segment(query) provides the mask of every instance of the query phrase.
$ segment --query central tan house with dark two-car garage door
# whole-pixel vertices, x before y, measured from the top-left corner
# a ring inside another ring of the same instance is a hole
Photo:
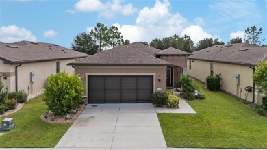
[[[188,55],[133,42],[68,65],[86,84],[88,103],[151,103],[153,92],[166,92],[167,86],[177,84]]]

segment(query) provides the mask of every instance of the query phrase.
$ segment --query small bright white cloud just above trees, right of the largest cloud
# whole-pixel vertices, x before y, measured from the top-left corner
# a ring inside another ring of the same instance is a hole
[[[191,25],[190,27],[186,27],[186,29],[183,29],[183,32],[181,32],[181,36],[183,36],[184,34],[191,37],[194,45],[196,45],[199,40],[212,38],[212,35],[205,32],[199,25]],[[214,38],[219,38],[220,40],[220,37],[218,36],[214,36]]]

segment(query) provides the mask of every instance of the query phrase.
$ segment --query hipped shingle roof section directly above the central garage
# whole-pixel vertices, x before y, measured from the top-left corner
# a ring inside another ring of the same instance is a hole
[[[79,66],[169,66],[170,63],[149,55],[128,45],[90,55],[87,58],[71,62],[68,65]]]

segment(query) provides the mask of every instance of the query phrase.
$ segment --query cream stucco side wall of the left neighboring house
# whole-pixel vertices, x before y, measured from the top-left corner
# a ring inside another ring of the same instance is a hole
[[[36,93],[38,90],[41,90],[47,81],[47,78],[56,73],[56,62],[60,62],[60,71],[74,73],[74,68],[72,66],[67,66],[66,64],[75,62],[75,59],[22,63],[21,66],[18,67],[18,90],[24,90],[27,94]],[[3,64],[3,61],[0,62],[0,72],[10,71],[11,74],[11,77],[8,77],[6,80],[3,80],[2,78],[4,86],[7,86],[9,91],[16,90],[14,72],[15,66],[17,65],[18,64]],[[33,83],[30,82],[31,71],[34,72]]]

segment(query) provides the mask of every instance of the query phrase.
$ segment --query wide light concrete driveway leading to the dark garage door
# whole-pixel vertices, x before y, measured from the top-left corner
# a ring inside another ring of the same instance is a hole
[[[86,106],[55,149],[168,149],[151,103],[93,106]]]

